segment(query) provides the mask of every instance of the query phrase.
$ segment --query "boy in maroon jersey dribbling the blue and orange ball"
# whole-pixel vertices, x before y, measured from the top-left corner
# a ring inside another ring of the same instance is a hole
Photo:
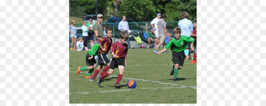
[[[122,78],[122,74],[124,73],[124,68],[126,66],[126,55],[128,50],[128,45],[126,44],[126,40],[128,39],[128,35],[125,31],[120,33],[120,41],[115,42],[111,47],[112,58],[110,60],[110,70],[105,72],[103,75],[99,76],[98,85],[101,86],[101,82],[104,78],[108,77],[108,75],[113,74],[113,70],[115,68],[119,69],[119,74],[116,79],[116,83],[114,85],[115,88],[120,88],[119,82]]]

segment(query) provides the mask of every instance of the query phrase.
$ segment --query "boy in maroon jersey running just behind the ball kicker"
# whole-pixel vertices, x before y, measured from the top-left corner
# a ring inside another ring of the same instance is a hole
[[[90,77],[89,81],[91,82],[95,82],[95,77],[96,75],[99,73],[99,71],[103,68],[104,64],[107,64],[104,68],[103,71],[100,73],[100,75],[103,75],[104,72],[106,72],[109,69],[109,59],[106,56],[106,54],[108,54],[113,41],[111,39],[112,35],[113,35],[113,29],[111,27],[106,28],[106,37],[104,37],[103,39],[100,39],[97,41],[97,43],[99,44],[100,48],[98,50],[98,65],[99,67],[97,69],[94,70],[93,75]],[[98,75],[97,75],[98,77]]]

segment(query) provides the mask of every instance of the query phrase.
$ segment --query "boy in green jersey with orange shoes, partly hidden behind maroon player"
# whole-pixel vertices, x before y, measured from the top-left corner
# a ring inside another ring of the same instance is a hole
[[[97,41],[99,39],[102,39],[103,37],[101,36],[97,36],[96,39]],[[100,48],[100,46],[98,44],[93,45],[93,47],[90,49],[90,51],[87,53],[86,55],[86,64],[87,66],[85,67],[78,67],[77,69],[77,75],[81,72],[81,71],[85,71],[85,70],[89,70],[89,73],[86,75],[86,78],[90,78],[93,70],[96,68],[96,60],[94,58],[94,56],[98,55],[98,49]]]

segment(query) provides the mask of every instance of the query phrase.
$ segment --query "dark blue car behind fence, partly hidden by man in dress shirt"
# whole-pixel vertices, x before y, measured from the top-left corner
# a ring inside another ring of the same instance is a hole
[[[105,23],[119,23],[122,19],[118,18],[118,17],[110,17],[107,19],[107,21]],[[133,35],[134,36],[138,36],[140,35],[140,37],[143,37],[143,32],[145,31],[143,28],[141,28],[133,19],[131,18],[126,18],[126,21],[129,23],[133,24],[129,24],[129,40],[134,40]],[[112,27],[113,28],[113,24],[106,24],[108,27]],[[120,31],[118,29],[118,24],[114,25],[115,29],[115,37],[119,38],[120,35]]]

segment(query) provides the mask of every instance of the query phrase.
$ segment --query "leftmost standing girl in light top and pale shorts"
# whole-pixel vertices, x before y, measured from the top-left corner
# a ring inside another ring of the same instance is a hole
[[[70,50],[76,50],[76,40],[77,40],[77,35],[76,35],[76,20],[72,19],[70,26],[69,26],[69,33],[71,37],[71,48]],[[73,48],[74,44],[74,48]]]

